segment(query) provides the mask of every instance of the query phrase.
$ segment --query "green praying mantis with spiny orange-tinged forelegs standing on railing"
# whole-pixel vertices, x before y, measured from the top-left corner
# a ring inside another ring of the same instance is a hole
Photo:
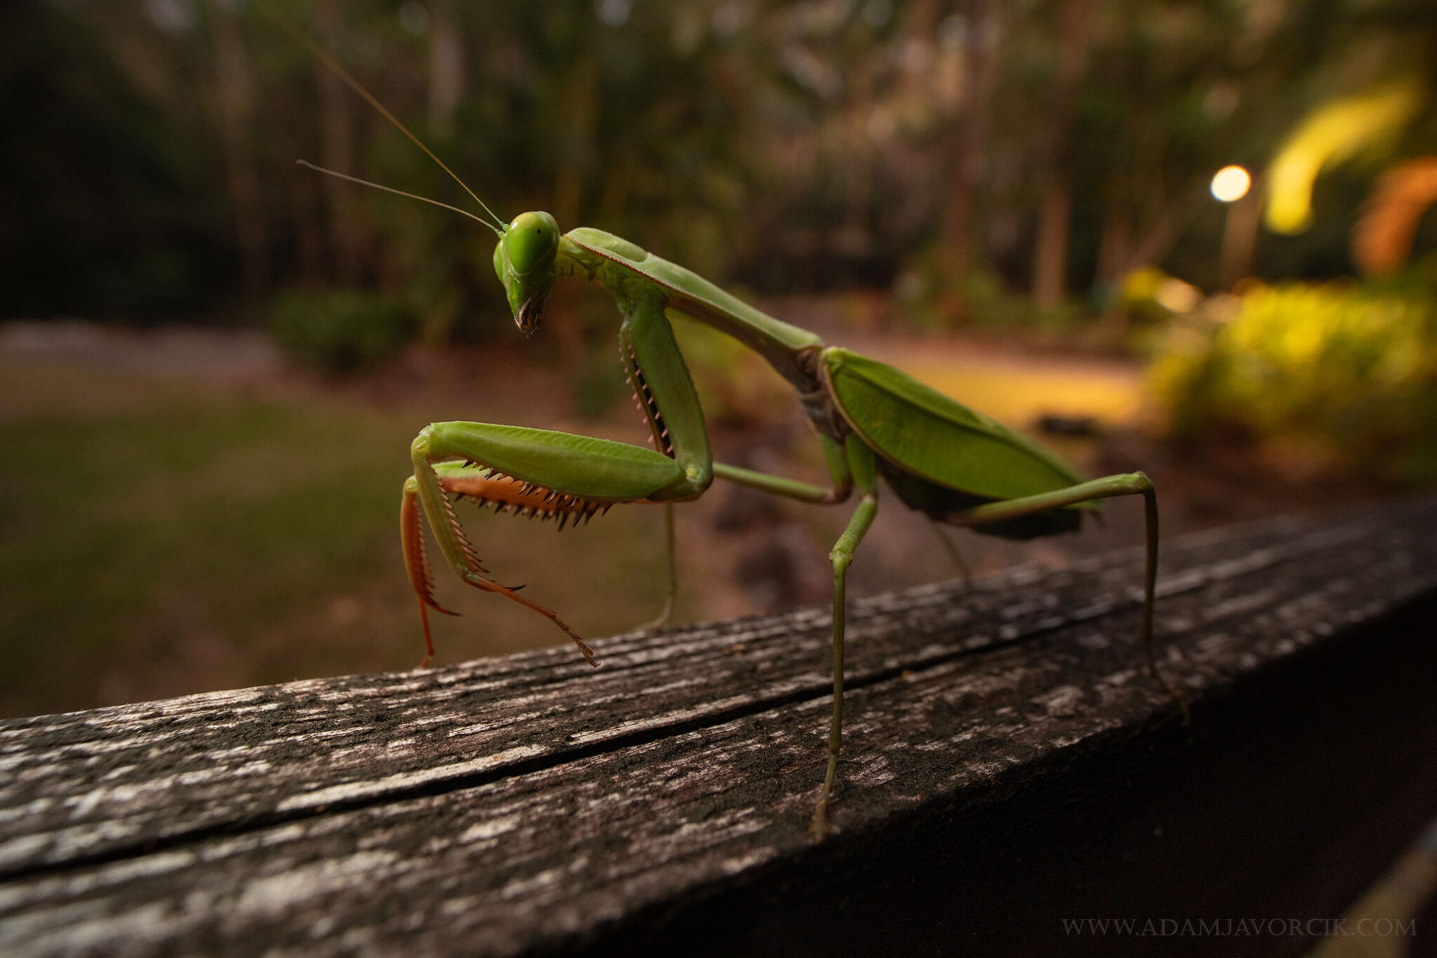
[[[611,233],[588,227],[560,233],[547,213],[522,213],[504,223],[333,57],[292,24],[286,23],[286,29],[428,154],[493,223],[427,197],[303,165],[461,213],[493,230],[499,238],[494,273],[504,286],[514,322],[526,333],[539,329],[545,300],[559,277],[602,286],[618,307],[624,371],[651,432],[652,448],[489,422],[434,422],[420,431],[410,448],[414,473],[404,483],[399,526],[405,569],[420,605],[425,664],[434,655],[428,612],[454,615],[434,597],[424,544],[427,520],[444,562],[461,580],[549,618],[578,643],[591,665],[598,665],[592,649],[558,613],[491,577],[466,537],[453,500],[556,518],[563,527],[616,503],[662,503],[671,510],[674,503],[703,496],[714,478],[822,506],[848,503],[856,496],[848,527],[829,553],[833,711],[828,766],[810,822],[815,840],[821,840],[829,830],[844,730],[844,586],[854,554],[878,513],[879,480],[901,503],[935,523],[1004,539],[1076,531],[1083,514],[1096,510],[1099,500],[1141,496],[1147,562],[1140,641],[1148,672],[1180,704],[1186,720],[1181,694],[1158,672],[1152,655],[1158,511],[1155,490],[1145,474],[1083,480],[1052,451],[981,412],[892,366],[829,346],[818,335],[780,322]],[[792,383],[822,445],[828,485],[714,461],[698,395],[670,326],[673,313],[734,338]],[[671,511],[668,530],[673,572]],[[673,586],[665,616],[671,605]]]

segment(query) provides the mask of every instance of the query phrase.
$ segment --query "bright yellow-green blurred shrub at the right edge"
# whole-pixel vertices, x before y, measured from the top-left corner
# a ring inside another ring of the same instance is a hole
[[[1388,478],[1437,478],[1437,306],[1338,283],[1256,286],[1175,322],[1152,389],[1175,438],[1292,438]]]

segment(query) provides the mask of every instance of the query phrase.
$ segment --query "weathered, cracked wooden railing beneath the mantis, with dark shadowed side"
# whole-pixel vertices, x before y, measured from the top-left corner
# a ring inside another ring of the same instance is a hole
[[[0,722],[0,952],[1300,954],[1142,922],[1335,918],[1437,810],[1437,503],[1165,543],[1191,727],[1137,582],[854,603],[819,846],[825,610]]]

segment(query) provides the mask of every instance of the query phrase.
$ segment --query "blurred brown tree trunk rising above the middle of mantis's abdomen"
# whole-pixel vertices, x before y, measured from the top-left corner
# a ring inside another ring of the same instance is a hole
[[[973,264],[974,194],[986,172],[993,82],[1002,36],[997,0],[963,0],[963,106],[948,147],[951,177],[938,227],[940,266],[960,277]]]

